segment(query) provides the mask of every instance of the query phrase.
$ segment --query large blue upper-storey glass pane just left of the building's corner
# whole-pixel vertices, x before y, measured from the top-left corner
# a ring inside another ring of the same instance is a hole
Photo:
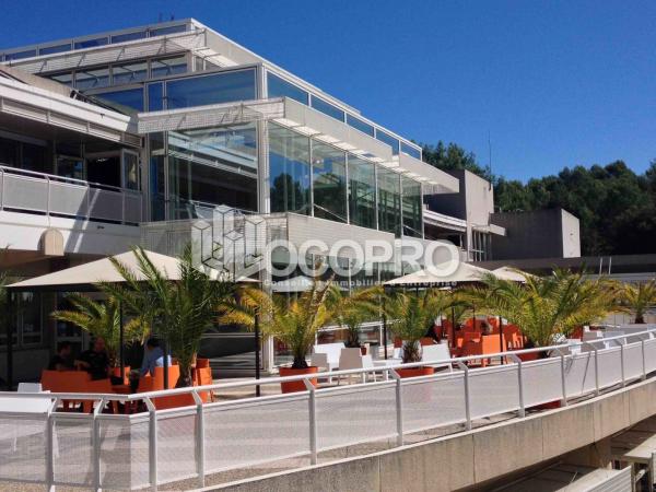
[[[255,99],[255,70],[181,79],[166,83],[168,109]]]

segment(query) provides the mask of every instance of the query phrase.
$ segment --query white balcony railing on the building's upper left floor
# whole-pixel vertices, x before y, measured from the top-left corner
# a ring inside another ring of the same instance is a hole
[[[138,224],[141,207],[140,191],[0,165],[0,210]]]

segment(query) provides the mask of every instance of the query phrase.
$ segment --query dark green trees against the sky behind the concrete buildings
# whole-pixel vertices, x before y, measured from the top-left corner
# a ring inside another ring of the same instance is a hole
[[[644,174],[622,161],[564,167],[555,176],[518,180],[494,176],[471,152],[449,143],[424,145],[424,161],[441,169],[469,169],[494,184],[496,210],[562,207],[581,220],[583,255],[656,253],[656,160]]]

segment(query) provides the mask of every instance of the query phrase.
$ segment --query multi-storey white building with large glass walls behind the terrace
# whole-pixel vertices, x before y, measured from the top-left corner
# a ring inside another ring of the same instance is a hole
[[[448,237],[482,257],[502,233],[488,212],[477,224],[424,207],[460,180],[418,144],[196,20],[0,50],[0,267],[22,276],[122,253],[218,207],[274,222],[267,241]],[[20,345],[50,350],[56,302],[19,324]]]

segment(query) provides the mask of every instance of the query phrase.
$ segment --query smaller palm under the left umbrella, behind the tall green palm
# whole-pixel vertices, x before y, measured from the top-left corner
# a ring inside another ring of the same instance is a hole
[[[115,297],[105,301],[95,301],[82,294],[66,296],[74,309],[55,311],[51,316],[58,321],[71,323],[91,333],[95,338],[103,338],[107,349],[109,364],[116,367],[117,354],[120,351],[120,307]],[[124,326],[124,342],[132,343],[142,336],[142,326],[137,319]]]

